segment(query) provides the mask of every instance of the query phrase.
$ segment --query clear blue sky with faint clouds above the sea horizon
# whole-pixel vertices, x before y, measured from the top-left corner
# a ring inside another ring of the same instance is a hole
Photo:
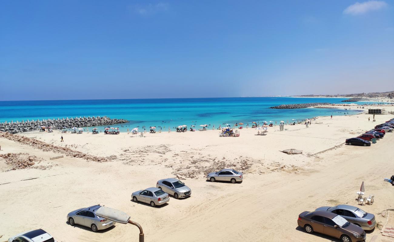
[[[394,91],[394,0],[4,0],[0,87],[0,100]]]

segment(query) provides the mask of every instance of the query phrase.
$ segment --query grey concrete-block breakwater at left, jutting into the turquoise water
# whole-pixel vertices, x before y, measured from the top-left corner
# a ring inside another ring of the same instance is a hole
[[[27,120],[26,122],[11,122],[11,123],[0,123],[0,131],[9,133],[21,133],[26,131],[33,131],[40,129],[41,126],[50,127],[52,129],[59,129],[62,127],[72,128],[72,127],[90,127],[90,126],[101,126],[101,125],[113,125],[113,124],[123,124],[127,123],[128,120],[109,118],[107,116],[93,116],[89,117],[75,117],[75,118],[58,118],[58,119],[43,119],[43,120]]]

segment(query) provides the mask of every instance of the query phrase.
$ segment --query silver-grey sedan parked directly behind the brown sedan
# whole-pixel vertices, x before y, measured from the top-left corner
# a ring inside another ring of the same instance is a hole
[[[375,228],[375,215],[364,212],[358,207],[342,204],[335,207],[319,207],[316,211],[322,210],[332,212],[334,214],[344,217],[349,222],[360,226],[364,230],[372,230]]]

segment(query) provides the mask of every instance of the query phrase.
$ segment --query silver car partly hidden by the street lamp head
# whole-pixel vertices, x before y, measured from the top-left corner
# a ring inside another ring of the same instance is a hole
[[[115,225],[116,222],[102,218],[96,214],[95,211],[97,211],[97,209],[100,207],[101,206],[99,204],[69,212],[69,214],[67,214],[67,221],[71,226],[79,224],[90,227],[93,232],[97,232],[102,229],[108,229],[109,227]]]

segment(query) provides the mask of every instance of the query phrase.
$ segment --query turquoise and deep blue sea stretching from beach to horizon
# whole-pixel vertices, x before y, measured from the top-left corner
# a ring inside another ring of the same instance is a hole
[[[290,103],[329,102],[341,103],[344,98],[169,98],[119,100],[56,100],[56,101],[2,101],[0,122],[66,118],[76,116],[108,116],[124,118],[130,122],[117,126],[127,128],[156,126],[168,130],[178,125],[208,124],[212,128],[223,124],[281,120],[292,122],[315,116],[355,114],[345,109],[269,109],[271,106]],[[342,102],[343,103],[343,102]]]

